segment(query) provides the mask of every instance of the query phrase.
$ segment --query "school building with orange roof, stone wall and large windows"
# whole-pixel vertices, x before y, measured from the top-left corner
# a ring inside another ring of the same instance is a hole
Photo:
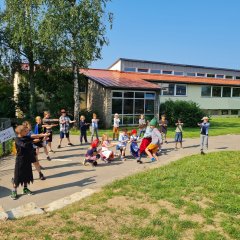
[[[240,70],[120,58],[108,69],[82,69],[81,109],[100,114],[106,127],[114,113],[122,125],[151,119],[167,99],[194,101],[209,115],[240,115]]]

